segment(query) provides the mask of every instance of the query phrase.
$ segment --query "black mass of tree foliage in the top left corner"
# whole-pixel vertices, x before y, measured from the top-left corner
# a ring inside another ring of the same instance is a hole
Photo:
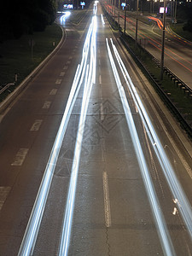
[[[24,33],[44,31],[54,22],[55,0],[15,0],[0,3],[0,42]]]

